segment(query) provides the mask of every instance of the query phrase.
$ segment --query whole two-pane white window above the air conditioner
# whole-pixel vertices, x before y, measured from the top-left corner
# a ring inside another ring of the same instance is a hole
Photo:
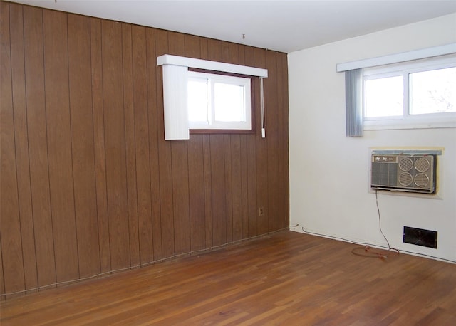
[[[365,68],[363,80],[365,129],[456,125],[456,56]]]

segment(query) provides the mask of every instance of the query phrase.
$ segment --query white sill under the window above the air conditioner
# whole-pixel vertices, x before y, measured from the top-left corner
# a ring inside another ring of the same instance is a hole
[[[456,117],[365,120],[364,130],[456,128]]]

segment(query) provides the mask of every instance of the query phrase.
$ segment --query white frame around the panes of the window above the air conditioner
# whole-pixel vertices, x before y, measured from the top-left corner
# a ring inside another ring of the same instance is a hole
[[[384,129],[420,129],[456,127],[456,112],[439,112],[425,114],[410,114],[410,79],[411,73],[456,67],[456,55],[450,54],[435,58],[423,58],[403,63],[380,65],[363,68],[363,120],[364,130]],[[403,115],[366,117],[366,80],[403,76]]]

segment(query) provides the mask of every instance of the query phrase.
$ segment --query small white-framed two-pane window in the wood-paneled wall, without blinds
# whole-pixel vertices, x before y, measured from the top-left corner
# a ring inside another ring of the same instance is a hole
[[[192,130],[252,130],[250,78],[188,72],[187,108]]]

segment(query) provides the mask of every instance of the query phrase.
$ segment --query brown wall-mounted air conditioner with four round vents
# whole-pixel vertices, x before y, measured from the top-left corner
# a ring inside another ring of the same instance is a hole
[[[372,154],[371,189],[435,194],[436,155]]]

